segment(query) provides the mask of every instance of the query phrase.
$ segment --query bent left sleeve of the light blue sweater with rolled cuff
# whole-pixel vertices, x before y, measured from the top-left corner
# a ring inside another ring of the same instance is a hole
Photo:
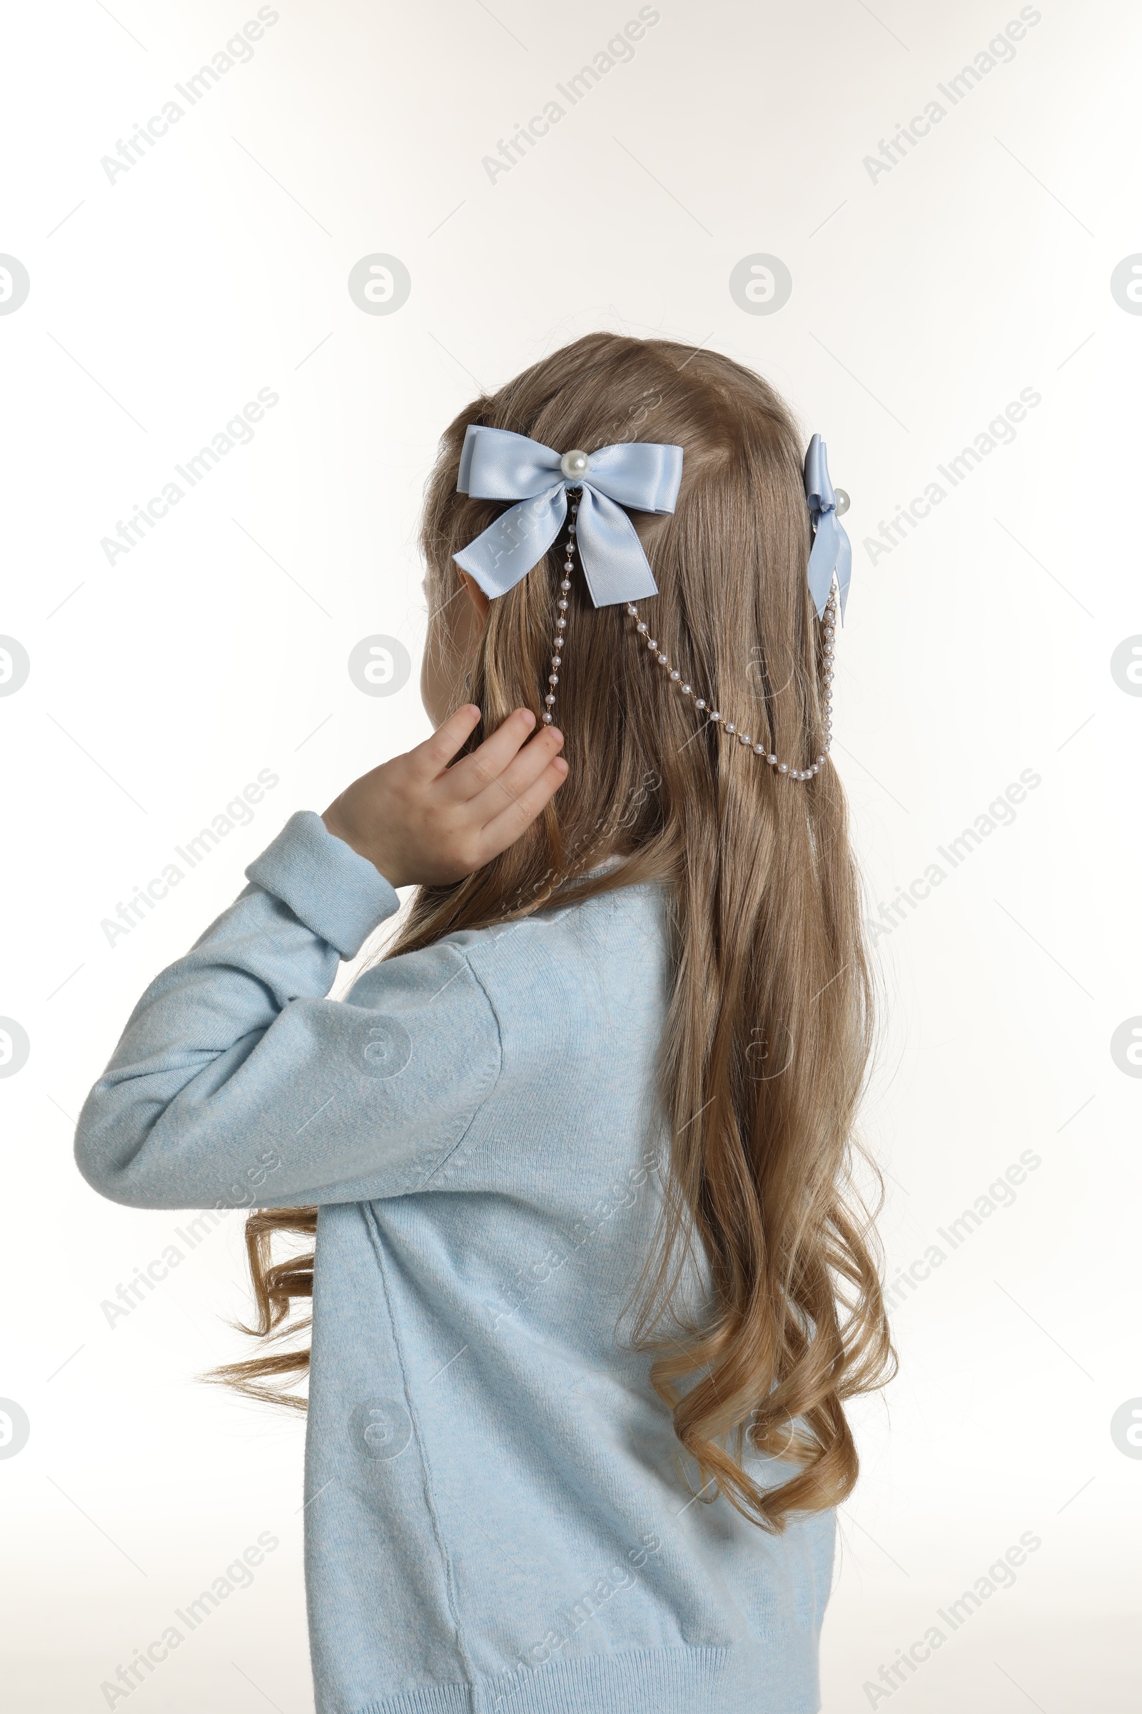
[[[147,987],[84,1102],[79,1171],[144,1208],[300,1207],[433,1188],[500,1070],[491,1003],[442,941],[325,996],[399,908],[301,811]]]

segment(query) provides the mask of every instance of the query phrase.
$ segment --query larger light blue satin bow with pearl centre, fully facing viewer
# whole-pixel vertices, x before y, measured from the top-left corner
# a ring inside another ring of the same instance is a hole
[[[623,511],[673,512],[681,447],[651,440],[558,454],[527,435],[473,423],[455,487],[476,500],[519,500],[454,560],[485,595],[505,595],[538,566],[567,518],[567,490],[582,487],[575,542],[596,607],[657,595],[635,526]],[[832,492],[832,490],[830,490]]]

